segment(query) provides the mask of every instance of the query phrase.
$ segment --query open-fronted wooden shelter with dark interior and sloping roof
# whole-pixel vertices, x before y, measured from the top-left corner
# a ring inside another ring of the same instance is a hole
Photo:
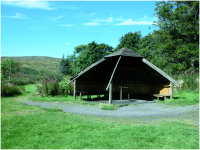
[[[100,95],[109,93],[145,94],[157,97],[173,97],[173,84],[178,82],[142,56],[128,48],[111,53],[70,79],[76,93]],[[109,91],[108,91],[109,89]],[[120,98],[121,95],[120,95]]]

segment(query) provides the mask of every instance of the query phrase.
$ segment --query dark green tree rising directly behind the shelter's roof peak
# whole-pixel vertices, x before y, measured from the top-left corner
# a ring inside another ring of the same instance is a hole
[[[114,49],[114,51],[117,51],[123,47],[132,49],[134,51],[138,50],[137,43],[141,39],[141,31],[138,32],[128,32],[124,36],[122,36],[119,41],[120,43],[117,45],[117,47]]]

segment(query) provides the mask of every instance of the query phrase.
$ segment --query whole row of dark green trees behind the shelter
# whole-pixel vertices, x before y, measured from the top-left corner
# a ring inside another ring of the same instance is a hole
[[[63,58],[60,70],[75,75],[102,57],[123,47],[136,53],[167,73],[195,72],[199,66],[199,1],[159,1],[155,14],[157,29],[142,37],[141,31],[128,32],[119,38],[116,48],[108,44],[74,48],[72,55]]]

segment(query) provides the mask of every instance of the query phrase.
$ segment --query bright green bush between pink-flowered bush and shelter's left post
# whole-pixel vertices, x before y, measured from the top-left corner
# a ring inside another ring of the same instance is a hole
[[[72,84],[69,84],[67,85],[67,83],[69,82],[69,79],[66,79],[64,78],[62,80],[62,82],[60,82],[59,84],[59,92],[60,92],[60,95],[64,95],[64,96],[67,96],[67,95],[72,95],[73,92],[74,92],[74,86]]]

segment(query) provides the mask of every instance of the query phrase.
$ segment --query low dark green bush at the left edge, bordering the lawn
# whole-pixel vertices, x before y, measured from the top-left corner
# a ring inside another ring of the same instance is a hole
[[[1,96],[7,97],[7,96],[14,96],[14,95],[20,95],[22,91],[24,91],[24,87],[18,87],[17,85],[13,85],[11,83],[5,83],[1,82]]]

